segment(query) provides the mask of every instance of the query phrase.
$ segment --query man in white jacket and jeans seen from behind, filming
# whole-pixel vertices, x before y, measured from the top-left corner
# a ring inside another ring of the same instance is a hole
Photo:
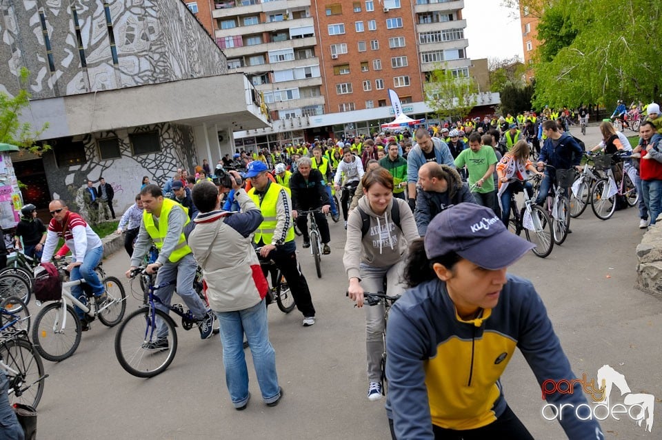
[[[276,354],[269,341],[264,297],[269,288],[250,235],[262,223],[262,214],[245,190],[237,185],[239,173],[230,171],[234,199],[241,212],[220,209],[218,188],[208,181],[193,187],[193,203],[199,210],[188,246],[202,268],[210,308],[221,325],[223,366],[232,405],[238,411],[248,406],[248,368],[243,352],[243,334],[253,357],[262,399],[277,406],[283,389],[278,386]]]

